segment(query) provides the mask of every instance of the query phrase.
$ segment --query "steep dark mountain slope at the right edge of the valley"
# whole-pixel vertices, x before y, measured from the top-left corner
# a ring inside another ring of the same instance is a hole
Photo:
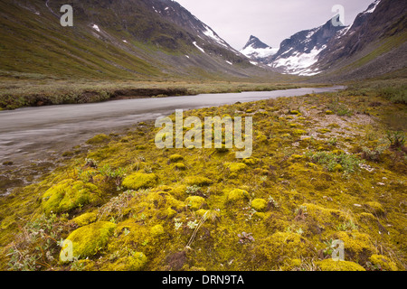
[[[326,70],[318,79],[373,78],[405,69],[407,2],[376,0],[341,37],[332,39],[313,69]]]

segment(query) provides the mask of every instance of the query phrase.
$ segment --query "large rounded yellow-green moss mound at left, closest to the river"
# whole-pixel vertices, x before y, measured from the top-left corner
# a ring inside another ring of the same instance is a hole
[[[70,211],[89,203],[99,203],[100,194],[98,187],[91,183],[65,180],[45,191],[42,208],[46,214]]]

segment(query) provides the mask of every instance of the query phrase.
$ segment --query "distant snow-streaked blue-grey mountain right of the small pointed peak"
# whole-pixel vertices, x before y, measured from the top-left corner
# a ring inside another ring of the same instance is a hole
[[[309,68],[318,61],[319,53],[327,49],[327,43],[345,29],[329,20],[317,28],[295,33],[281,42],[279,51],[263,63],[282,73],[315,75],[318,68]]]

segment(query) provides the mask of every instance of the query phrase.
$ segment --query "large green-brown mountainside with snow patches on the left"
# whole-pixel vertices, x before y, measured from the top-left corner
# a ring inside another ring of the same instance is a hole
[[[0,77],[224,79],[272,77],[172,0],[0,1]]]

